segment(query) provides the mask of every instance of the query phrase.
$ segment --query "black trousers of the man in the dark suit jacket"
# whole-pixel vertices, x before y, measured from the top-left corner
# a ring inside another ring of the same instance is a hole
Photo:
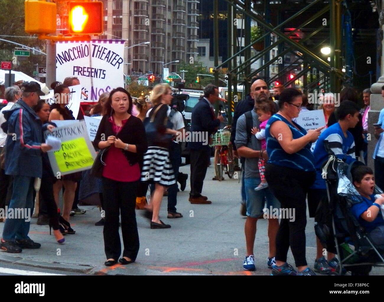
[[[209,165],[211,149],[190,150],[191,177],[190,197],[199,197],[203,190],[205,174]]]

